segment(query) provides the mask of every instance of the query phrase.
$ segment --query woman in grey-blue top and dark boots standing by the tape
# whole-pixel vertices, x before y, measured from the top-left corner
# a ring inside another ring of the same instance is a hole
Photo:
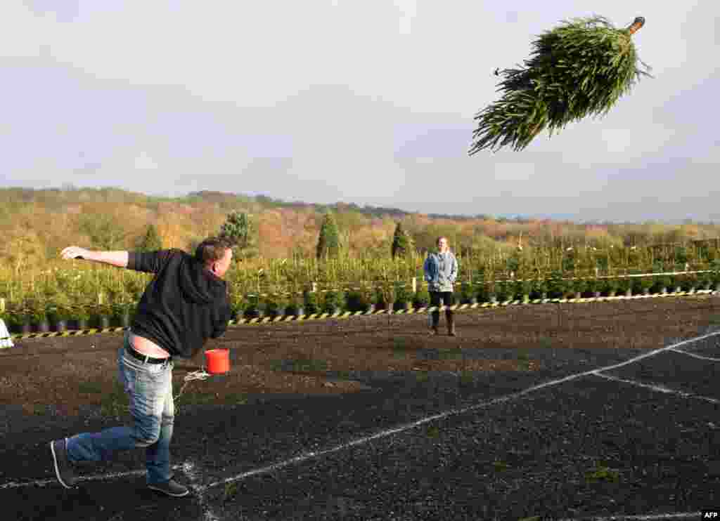
[[[457,277],[457,260],[450,251],[448,240],[445,237],[438,237],[437,244],[438,251],[428,254],[423,269],[430,292],[430,305],[439,308],[441,301],[444,305],[453,305],[455,302],[452,291],[453,282],[455,282]],[[432,312],[432,318],[433,325],[431,333],[436,335],[438,334],[440,311],[434,310]],[[448,334],[455,336],[455,322],[452,310],[445,310],[445,318],[448,324]]]

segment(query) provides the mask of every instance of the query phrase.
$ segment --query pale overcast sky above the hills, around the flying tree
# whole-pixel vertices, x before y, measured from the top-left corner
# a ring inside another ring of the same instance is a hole
[[[469,157],[493,70],[593,14],[647,19],[654,78]],[[0,185],[720,221],[719,19],[711,0],[2,0]]]

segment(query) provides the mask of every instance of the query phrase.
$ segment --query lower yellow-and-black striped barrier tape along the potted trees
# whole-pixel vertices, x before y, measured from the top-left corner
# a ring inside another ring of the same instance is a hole
[[[377,309],[372,311],[338,311],[336,313],[312,313],[310,315],[276,315],[254,318],[240,318],[240,320],[230,320],[228,326],[240,326],[243,324],[269,324],[276,322],[302,322],[302,321],[319,321],[328,318],[351,318],[357,316],[369,315],[413,315],[420,313],[431,313],[432,311],[443,310],[473,310],[485,308],[503,308],[509,305],[532,305],[547,303],[587,303],[587,302],[611,302],[615,300],[636,300],[643,298],[666,298],[666,297],[683,297],[693,295],[717,295],[720,292],[715,290],[696,290],[681,291],[672,293],[654,293],[650,295],[618,295],[615,297],[588,297],[588,298],[544,298],[544,299],[523,299],[523,300],[505,300],[504,302],[484,302],[475,304],[454,304],[449,306],[441,305],[440,307],[432,306],[426,308],[406,308],[400,310]],[[46,333],[16,333],[9,337],[0,338],[0,340],[24,340],[26,338],[50,338],[54,336],[81,336],[96,335],[101,333],[119,333],[125,331],[126,327],[118,326],[113,328],[90,328],[78,329],[72,331],[48,331]]]

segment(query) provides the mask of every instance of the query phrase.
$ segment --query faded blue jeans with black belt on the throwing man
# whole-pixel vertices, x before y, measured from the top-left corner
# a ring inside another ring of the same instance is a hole
[[[145,448],[148,484],[165,483],[170,471],[170,440],[173,436],[173,362],[146,364],[125,352],[129,344],[125,331],[123,346],[117,353],[120,382],[130,398],[132,426],[113,427],[99,433],[83,433],[68,438],[68,459],[105,461],[116,451]]]

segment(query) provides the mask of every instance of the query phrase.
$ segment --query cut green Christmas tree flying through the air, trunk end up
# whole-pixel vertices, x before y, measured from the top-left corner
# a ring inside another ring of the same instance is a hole
[[[475,116],[469,155],[505,146],[519,151],[545,128],[552,136],[571,121],[607,114],[642,75],[649,76],[631,40],[643,24],[638,17],[627,29],[616,29],[592,17],[541,34],[524,67],[495,72],[503,75],[503,96]]]

